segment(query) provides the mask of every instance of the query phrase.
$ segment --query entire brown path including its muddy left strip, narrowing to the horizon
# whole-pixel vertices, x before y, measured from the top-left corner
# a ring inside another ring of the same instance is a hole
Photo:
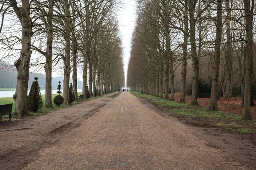
[[[198,135],[199,130],[159,114],[129,92],[115,96],[104,96],[14,125],[1,124],[0,169],[255,168],[227,159],[227,151],[207,142],[203,135]]]

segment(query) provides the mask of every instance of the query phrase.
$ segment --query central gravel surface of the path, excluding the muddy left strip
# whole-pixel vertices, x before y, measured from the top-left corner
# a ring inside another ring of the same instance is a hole
[[[62,134],[57,143],[40,150],[38,158],[23,169],[249,169],[224,159],[223,150],[199,138],[190,128],[166,119],[129,92],[121,92]]]

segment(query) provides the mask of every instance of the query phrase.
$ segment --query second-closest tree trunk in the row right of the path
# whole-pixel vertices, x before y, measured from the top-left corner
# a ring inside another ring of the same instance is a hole
[[[212,89],[209,110],[218,111],[218,74],[221,58],[221,33],[222,33],[222,0],[217,1],[216,39],[214,48],[214,63],[212,68]]]

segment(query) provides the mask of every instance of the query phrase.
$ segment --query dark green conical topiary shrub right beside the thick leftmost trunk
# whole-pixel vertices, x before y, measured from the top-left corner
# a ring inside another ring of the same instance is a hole
[[[27,98],[27,108],[28,111],[38,112],[44,107],[41,91],[38,83],[38,78],[35,77],[35,81],[32,82],[32,86],[29,91],[29,96]]]

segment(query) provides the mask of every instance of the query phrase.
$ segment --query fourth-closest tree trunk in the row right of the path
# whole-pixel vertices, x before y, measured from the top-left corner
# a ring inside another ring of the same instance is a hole
[[[186,67],[187,67],[187,46],[188,46],[188,0],[185,0],[184,9],[184,42],[182,45],[182,70],[181,70],[181,87],[180,87],[180,102],[186,103],[185,91],[186,91]]]

